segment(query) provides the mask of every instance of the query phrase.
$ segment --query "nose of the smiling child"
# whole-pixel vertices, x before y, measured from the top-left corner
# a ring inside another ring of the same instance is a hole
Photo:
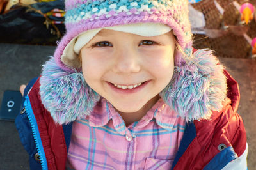
[[[141,57],[132,47],[120,47],[115,52],[115,73],[135,73],[141,70]]]

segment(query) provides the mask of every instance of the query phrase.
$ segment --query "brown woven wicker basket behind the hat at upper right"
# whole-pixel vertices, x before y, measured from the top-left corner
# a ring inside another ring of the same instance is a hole
[[[204,13],[205,28],[207,29],[223,29],[225,25],[239,26],[240,13],[232,4],[231,0],[217,0],[217,2],[225,9],[223,15],[216,8],[213,0],[203,0],[199,3],[192,4],[193,8]],[[246,0],[237,0],[237,3],[246,3]],[[256,4],[256,0],[249,1]],[[256,37],[256,22],[252,20],[248,24],[247,35],[251,38]],[[196,49],[210,48],[216,52],[216,56],[227,58],[252,58],[251,45],[243,36],[235,35],[231,31],[218,38],[209,38],[207,35],[194,35],[193,47]]]

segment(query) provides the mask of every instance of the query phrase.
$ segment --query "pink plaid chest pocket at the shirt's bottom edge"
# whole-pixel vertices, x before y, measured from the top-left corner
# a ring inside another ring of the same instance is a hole
[[[145,170],[152,170],[152,169],[171,169],[173,164],[173,159],[170,160],[161,160],[156,158],[146,158],[145,160]]]

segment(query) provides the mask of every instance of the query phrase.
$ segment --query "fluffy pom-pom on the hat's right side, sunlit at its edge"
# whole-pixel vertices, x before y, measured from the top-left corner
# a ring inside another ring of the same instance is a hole
[[[186,121],[209,119],[227,97],[223,65],[209,49],[197,50],[159,95]]]

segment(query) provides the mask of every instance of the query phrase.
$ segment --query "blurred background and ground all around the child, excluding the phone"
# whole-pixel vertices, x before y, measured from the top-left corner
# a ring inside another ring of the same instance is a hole
[[[256,169],[255,7],[256,0],[190,0],[189,5],[193,47],[214,50],[239,83],[237,112],[247,133],[248,169]],[[20,84],[40,75],[65,34],[64,10],[64,0],[0,0],[0,104],[6,90],[19,91]],[[13,119],[0,119],[0,169],[29,169]]]

